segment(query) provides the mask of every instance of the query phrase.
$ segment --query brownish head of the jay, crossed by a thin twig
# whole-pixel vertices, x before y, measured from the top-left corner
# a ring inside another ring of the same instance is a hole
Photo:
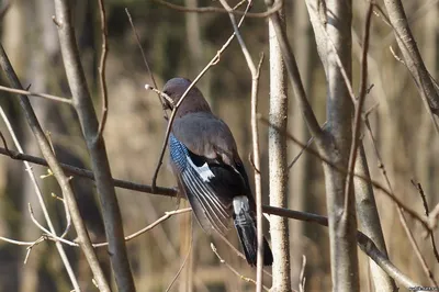
[[[185,78],[172,78],[166,82],[162,92],[170,99],[165,99],[165,106],[167,110],[172,110],[173,106],[178,104],[191,83],[192,81]],[[211,108],[204,99],[203,93],[201,93],[195,86],[191,88],[184,100],[181,102],[177,111],[177,117],[194,112],[211,112]]]

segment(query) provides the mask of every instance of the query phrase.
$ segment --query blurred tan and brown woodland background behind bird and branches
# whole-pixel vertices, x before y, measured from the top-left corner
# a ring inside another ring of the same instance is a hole
[[[95,109],[101,111],[98,65],[101,54],[101,30],[98,1],[70,1],[78,45],[81,53],[88,86],[92,92]],[[437,0],[403,1],[415,38],[430,74],[436,78],[439,68],[439,10]],[[54,15],[53,0],[0,1],[1,42],[19,74],[24,87],[35,92],[70,97],[64,72]],[[221,7],[217,1],[172,0],[183,7]],[[230,5],[237,1],[229,1]],[[379,4],[380,1],[379,1]],[[365,15],[365,1],[353,1],[352,60],[353,87],[358,88],[361,37]],[[143,63],[142,54],[125,14],[127,8],[140,37],[140,45],[157,79],[158,87],[167,79],[181,76],[193,79],[222,47],[233,29],[225,13],[183,13],[160,4],[158,0],[106,0],[108,33],[110,53],[106,63],[109,87],[109,117],[104,132],[111,169],[114,178],[150,184],[158,161],[166,130],[161,105],[157,96],[144,89],[151,83]],[[263,1],[256,1],[252,11],[264,11]],[[325,117],[326,81],[315,48],[312,27],[304,1],[285,1],[288,34],[294,48],[303,82],[314,111],[323,124]],[[263,18],[247,18],[241,26],[243,36],[255,60],[261,53],[268,57],[268,22]],[[398,55],[391,27],[382,16],[372,18],[371,44],[369,50],[369,81],[374,87],[367,98],[365,109],[370,114],[372,131],[383,164],[395,194],[406,204],[424,213],[417,190],[410,183],[421,183],[428,204],[432,209],[439,202],[438,136],[426,114],[421,100],[408,71],[392,55],[390,47]],[[268,59],[268,58],[266,58]],[[262,65],[259,91],[259,112],[268,116],[269,64]],[[1,75],[1,85],[8,86]],[[210,101],[213,111],[230,126],[237,141],[240,156],[246,162],[249,177],[252,168],[248,162],[251,151],[250,136],[250,86],[251,77],[236,41],[221,56],[199,82],[199,88]],[[16,98],[3,98],[0,104],[7,110],[15,134],[25,151],[41,156],[30,128],[20,111]],[[294,97],[289,96],[289,130],[306,143],[309,138],[301,113],[296,110]],[[61,161],[89,168],[88,153],[82,139],[76,114],[66,104],[32,98],[32,104],[45,131],[56,145]],[[13,148],[10,135],[0,122],[0,130]],[[267,127],[260,125],[262,187],[268,202]],[[363,131],[371,175],[383,181],[378,167],[376,155],[371,147],[371,137]],[[289,144],[291,160],[299,148]],[[167,158],[166,158],[167,160]],[[290,161],[289,160],[289,161]],[[45,168],[34,167],[40,176]],[[63,203],[50,195],[60,195],[53,177],[40,179],[50,216],[59,233],[66,224]],[[75,192],[93,242],[104,240],[102,218],[95,201],[93,183],[74,178]],[[167,161],[160,170],[158,186],[175,187]],[[116,189],[121,204],[125,234],[132,234],[153,223],[164,212],[185,205],[176,199]],[[395,205],[375,193],[391,260],[404,273],[424,285],[430,282],[404,232]],[[291,209],[326,215],[324,178],[320,161],[304,154],[290,169],[289,205]],[[35,217],[44,222],[35,190],[24,166],[20,161],[0,156],[0,236],[32,242],[42,232],[31,221],[27,204]],[[193,227],[192,227],[193,226]],[[291,262],[294,288],[306,257],[306,291],[330,291],[328,232],[311,223],[291,222]],[[423,257],[432,274],[439,278],[429,238],[418,224],[408,217]],[[268,231],[267,231],[268,234]],[[436,235],[439,237],[439,233]],[[72,229],[68,236],[76,237]],[[192,238],[192,239],[191,239]],[[235,233],[229,240],[238,247]],[[222,265],[212,252],[210,243],[215,243],[218,254],[244,277],[255,278],[245,260],[238,258],[222,240],[202,233],[189,214],[171,217],[148,233],[127,243],[131,265],[138,291],[165,291],[177,274],[191,247],[189,260],[171,291],[252,291],[251,283],[243,281]],[[191,246],[192,245],[192,246]],[[91,272],[79,249],[65,247],[76,273],[86,291],[95,291]],[[70,291],[67,273],[55,249],[44,242],[35,246],[27,259],[23,260],[26,248],[0,242],[0,291]],[[361,291],[374,291],[369,279],[365,256],[359,251]],[[102,265],[109,271],[105,248],[99,249]],[[270,269],[268,269],[270,271]],[[270,287],[271,279],[264,277]]]

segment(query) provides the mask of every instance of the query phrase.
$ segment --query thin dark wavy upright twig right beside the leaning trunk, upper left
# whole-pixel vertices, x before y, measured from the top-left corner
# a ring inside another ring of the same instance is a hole
[[[106,29],[105,5],[103,3],[103,0],[98,0],[98,3],[99,3],[99,13],[101,15],[101,34],[102,34],[102,44],[101,44],[102,50],[101,50],[101,59],[99,63],[99,82],[101,85],[101,94],[102,94],[102,113],[101,113],[101,123],[99,124],[95,139],[101,138],[103,130],[105,128],[106,116],[109,113],[109,93],[105,80],[106,55],[109,53],[109,44],[106,42],[106,37],[109,31]]]

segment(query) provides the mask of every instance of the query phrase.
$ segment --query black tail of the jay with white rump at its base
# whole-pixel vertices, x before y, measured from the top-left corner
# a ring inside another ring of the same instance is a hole
[[[258,258],[258,237],[256,231],[255,217],[250,213],[250,204],[245,195],[235,196],[234,205],[234,222],[238,232],[239,242],[246,255],[247,262],[250,266],[256,266]],[[273,255],[267,239],[263,238],[263,265],[271,266]]]

